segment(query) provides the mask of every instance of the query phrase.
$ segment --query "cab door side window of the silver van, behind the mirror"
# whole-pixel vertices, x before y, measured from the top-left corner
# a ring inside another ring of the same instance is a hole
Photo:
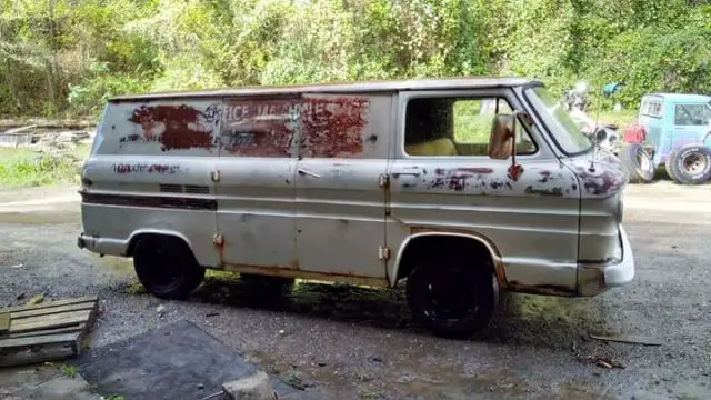
[[[497,107],[511,113],[504,98],[412,99],[405,110],[405,153],[409,156],[487,156]],[[517,124],[517,154],[531,154],[535,143]]]

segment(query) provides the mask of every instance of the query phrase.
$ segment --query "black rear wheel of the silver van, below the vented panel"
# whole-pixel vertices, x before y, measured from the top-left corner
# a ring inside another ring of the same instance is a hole
[[[161,299],[186,299],[204,279],[204,268],[179,238],[144,236],[133,250],[136,274],[146,290]]]

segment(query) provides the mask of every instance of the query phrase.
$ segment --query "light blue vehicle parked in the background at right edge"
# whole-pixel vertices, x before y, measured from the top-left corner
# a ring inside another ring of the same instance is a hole
[[[657,167],[663,166],[678,183],[704,183],[711,179],[711,97],[647,94],[638,121],[623,130],[622,140],[627,146],[621,158],[634,178],[651,181]],[[649,156],[651,166],[632,157],[641,152]]]

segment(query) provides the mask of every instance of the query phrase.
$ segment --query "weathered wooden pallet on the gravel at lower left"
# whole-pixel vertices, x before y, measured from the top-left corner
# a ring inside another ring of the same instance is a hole
[[[0,309],[0,367],[78,356],[98,312],[96,296]]]

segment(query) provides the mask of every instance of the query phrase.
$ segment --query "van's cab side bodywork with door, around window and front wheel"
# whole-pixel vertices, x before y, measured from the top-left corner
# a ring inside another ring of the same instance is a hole
[[[538,151],[517,156],[523,167],[518,180],[508,174],[511,159],[408,156],[403,149],[408,101],[432,96],[501,97],[523,109],[513,91],[505,89],[400,94],[399,144],[389,168],[388,244],[392,253],[401,254],[415,231],[471,233],[497,249],[510,289],[574,294],[580,216],[575,174],[555,158],[535,129],[529,134]],[[392,263],[390,269],[397,267]],[[389,276],[395,273],[392,270]]]

